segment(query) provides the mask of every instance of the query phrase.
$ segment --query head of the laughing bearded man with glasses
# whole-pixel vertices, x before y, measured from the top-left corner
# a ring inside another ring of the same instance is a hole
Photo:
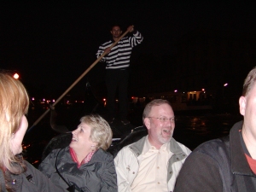
[[[175,128],[171,104],[162,99],[148,102],[143,111],[143,124],[148,129],[148,141],[155,148],[170,142]]]

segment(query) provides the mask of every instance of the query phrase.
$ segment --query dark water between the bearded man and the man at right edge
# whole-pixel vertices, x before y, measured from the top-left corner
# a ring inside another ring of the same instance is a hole
[[[178,116],[173,137],[194,149],[203,142],[228,135],[232,125],[241,119],[241,115],[229,113]]]

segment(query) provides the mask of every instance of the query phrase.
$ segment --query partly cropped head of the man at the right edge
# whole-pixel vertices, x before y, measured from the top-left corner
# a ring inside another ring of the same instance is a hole
[[[249,129],[256,137],[256,67],[248,74],[239,98],[240,113],[243,115],[243,129]]]

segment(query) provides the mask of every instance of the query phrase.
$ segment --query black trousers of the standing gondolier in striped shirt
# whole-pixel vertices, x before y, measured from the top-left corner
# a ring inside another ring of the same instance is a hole
[[[108,90],[108,113],[110,118],[115,117],[115,99],[116,90],[119,95],[119,118],[126,119],[128,113],[127,95],[128,95],[129,70],[107,69],[106,85]]]

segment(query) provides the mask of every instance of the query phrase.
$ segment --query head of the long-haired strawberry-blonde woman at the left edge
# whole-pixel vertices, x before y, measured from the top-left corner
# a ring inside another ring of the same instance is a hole
[[[12,162],[22,151],[21,143],[27,129],[29,98],[23,84],[9,73],[0,73],[0,166],[17,172]]]

